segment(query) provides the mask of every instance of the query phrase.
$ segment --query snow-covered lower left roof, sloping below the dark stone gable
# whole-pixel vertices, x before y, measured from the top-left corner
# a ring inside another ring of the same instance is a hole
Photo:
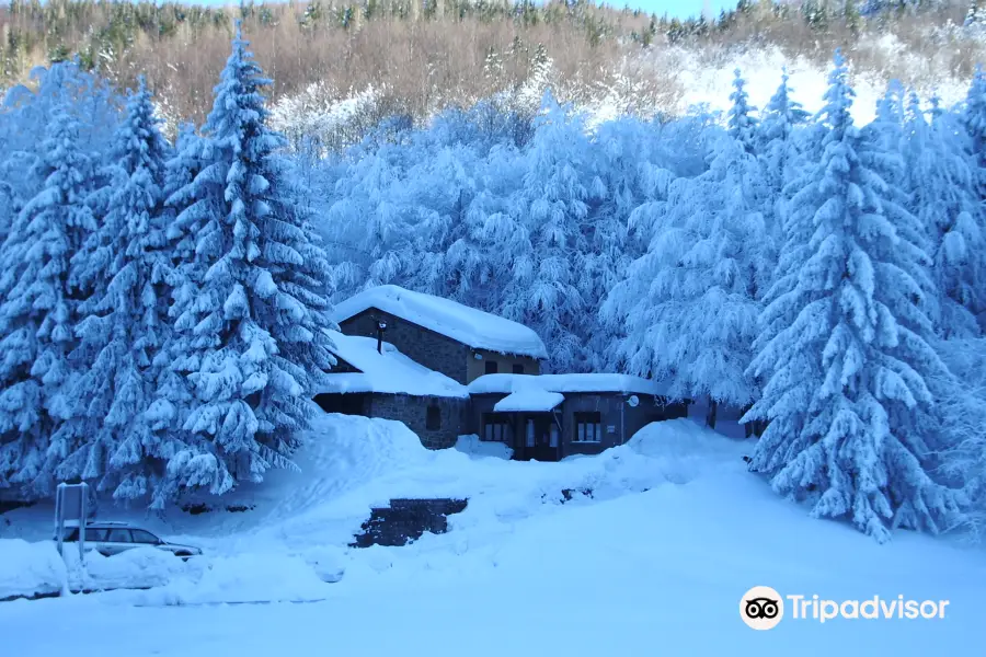
[[[411,360],[393,345],[383,343],[383,353],[377,351],[372,337],[344,335],[332,331],[334,354],[360,370],[358,372],[329,372],[328,382],[320,392],[382,392],[420,396],[468,397],[466,387],[457,381]]]

